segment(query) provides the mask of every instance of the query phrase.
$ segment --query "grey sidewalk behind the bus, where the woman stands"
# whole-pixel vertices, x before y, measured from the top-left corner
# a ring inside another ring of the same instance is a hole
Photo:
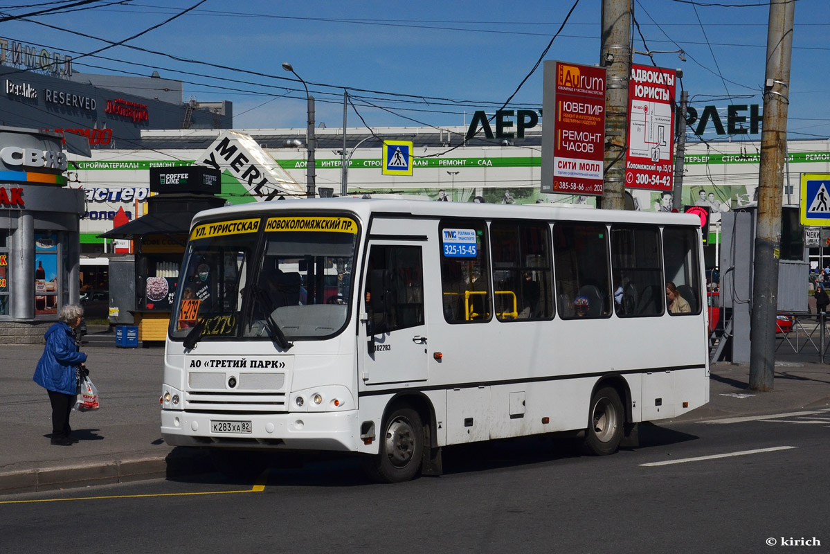
[[[110,333],[113,342],[115,336]],[[51,446],[51,407],[32,381],[42,346],[0,350],[0,402],[4,449],[0,451],[0,495],[55,488],[175,478],[212,470],[202,450],[164,444],[159,431],[159,395],[164,350],[84,346],[101,408],[71,414],[81,442]],[[710,403],[676,421],[777,414],[830,408],[830,365],[818,355],[779,354],[774,392],[746,389],[748,365],[711,367]],[[740,398],[743,395],[751,395]]]

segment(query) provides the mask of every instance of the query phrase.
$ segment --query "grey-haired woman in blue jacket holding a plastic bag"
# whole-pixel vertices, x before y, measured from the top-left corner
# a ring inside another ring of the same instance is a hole
[[[68,305],[61,308],[58,321],[46,331],[46,347],[37,362],[33,380],[49,393],[52,406],[51,444],[69,446],[72,439],[69,413],[78,395],[76,366],[86,361],[86,354],[78,351],[73,331],[81,325],[84,309]]]

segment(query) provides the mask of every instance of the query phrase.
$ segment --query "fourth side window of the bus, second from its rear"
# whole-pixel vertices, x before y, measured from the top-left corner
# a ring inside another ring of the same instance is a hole
[[[657,227],[611,228],[614,311],[620,317],[663,313],[659,234]]]

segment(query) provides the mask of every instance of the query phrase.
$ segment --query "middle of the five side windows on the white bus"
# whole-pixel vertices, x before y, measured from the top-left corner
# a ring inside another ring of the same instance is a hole
[[[579,316],[574,302],[587,304],[585,317],[611,315],[608,286],[608,228],[601,223],[556,223],[554,267],[559,316]],[[579,298],[579,301],[577,301]]]

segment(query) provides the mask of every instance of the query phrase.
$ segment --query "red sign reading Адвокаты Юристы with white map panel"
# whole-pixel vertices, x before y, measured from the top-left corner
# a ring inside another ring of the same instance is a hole
[[[675,70],[631,66],[625,169],[627,188],[671,190],[674,100]]]

